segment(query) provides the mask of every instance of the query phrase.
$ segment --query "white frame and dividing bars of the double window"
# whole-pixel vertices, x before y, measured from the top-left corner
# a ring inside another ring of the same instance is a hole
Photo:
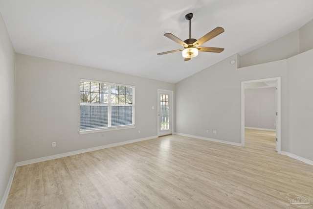
[[[97,103],[81,103],[79,99],[80,106],[108,106],[108,127],[102,127],[102,128],[94,128],[94,129],[88,129],[88,130],[81,130],[80,129],[80,116],[79,116],[79,134],[88,134],[88,133],[96,133],[96,132],[103,132],[103,131],[113,131],[113,130],[121,130],[121,129],[130,129],[135,128],[135,86],[133,85],[127,85],[127,84],[118,84],[118,83],[110,83],[105,81],[97,81],[97,80],[89,80],[89,79],[80,79],[80,82],[95,82],[95,83],[102,83],[109,85],[109,91],[108,91],[108,104],[97,104]],[[79,82],[79,83],[80,83]],[[125,86],[125,87],[131,87],[133,90],[133,103],[132,104],[112,104],[111,103],[111,86]],[[79,90],[80,93],[80,90]],[[132,124],[130,125],[120,125],[120,126],[112,126],[112,106],[129,106],[133,107],[133,114],[132,114]],[[79,108],[80,109],[80,108]]]

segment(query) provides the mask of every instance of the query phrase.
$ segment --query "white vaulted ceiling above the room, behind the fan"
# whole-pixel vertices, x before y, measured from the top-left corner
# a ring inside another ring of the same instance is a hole
[[[267,44],[313,19],[313,0],[0,0],[0,12],[18,53],[176,83],[235,53]],[[191,36],[217,26],[225,32],[184,62],[181,48],[163,36]]]

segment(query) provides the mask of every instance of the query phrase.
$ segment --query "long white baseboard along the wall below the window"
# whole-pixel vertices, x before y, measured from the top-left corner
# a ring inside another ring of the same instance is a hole
[[[66,153],[62,153],[62,154],[50,155],[50,156],[46,156],[46,157],[42,157],[42,158],[35,158],[35,159],[27,160],[27,161],[17,162],[16,165],[22,166],[22,165],[28,165],[28,164],[32,164],[32,163],[39,163],[39,162],[44,162],[44,161],[53,160],[53,159],[57,159],[57,158],[63,158],[63,157],[71,156],[71,155],[77,155],[77,154],[81,154],[81,153],[85,153],[85,152],[91,152],[91,151],[95,151],[95,150],[99,150],[99,149],[105,149],[105,148],[109,148],[109,147],[120,146],[120,145],[124,145],[124,144],[130,144],[130,143],[134,143],[134,142],[138,142],[138,141],[144,141],[144,140],[156,139],[156,138],[157,138],[157,136],[152,136],[152,137],[146,137],[146,138],[141,138],[141,139],[122,141],[122,142],[117,142],[117,143],[112,143],[112,144],[107,144],[107,145],[102,145],[102,146],[96,146],[96,147],[91,147],[91,148],[87,148],[87,149],[81,149],[81,150],[77,150],[77,151],[66,152]]]

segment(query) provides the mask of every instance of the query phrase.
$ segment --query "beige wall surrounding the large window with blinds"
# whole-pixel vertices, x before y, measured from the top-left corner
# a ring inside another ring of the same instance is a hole
[[[135,128],[80,135],[80,78],[134,85]],[[157,89],[174,90],[166,82],[22,54],[16,55],[16,83],[18,162],[156,136]]]

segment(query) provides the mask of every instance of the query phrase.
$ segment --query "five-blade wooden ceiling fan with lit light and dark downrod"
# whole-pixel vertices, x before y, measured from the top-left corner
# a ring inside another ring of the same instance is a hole
[[[216,48],[216,47],[205,47],[201,46],[205,42],[213,39],[214,37],[220,35],[224,32],[223,27],[216,27],[212,31],[208,32],[204,36],[202,36],[199,40],[192,39],[191,38],[191,19],[193,17],[193,13],[189,13],[185,16],[186,20],[189,21],[189,39],[186,39],[185,41],[180,40],[176,36],[174,36],[172,33],[165,33],[164,36],[167,38],[175,41],[179,45],[183,46],[182,49],[176,49],[172,51],[165,51],[161,53],[157,53],[157,55],[163,55],[163,54],[169,54],[177,51],[182,51],[182,56],[185,58],[185,61],[191,60],[191,58],[198,55],[198,51],[206,51],[206,52],[216,52],[220,53],[224,51],[224,48]],[[201,47],[200,47],[201,46]]]

